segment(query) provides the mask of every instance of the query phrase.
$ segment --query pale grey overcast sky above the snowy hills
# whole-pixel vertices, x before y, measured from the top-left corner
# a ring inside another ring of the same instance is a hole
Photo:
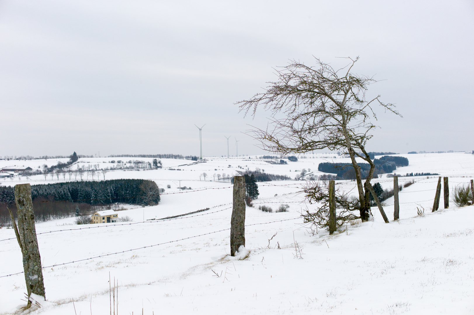
[[[370,151],[473,150],[473,1],[0,1],[0,155],[262,154],[235,103],[360,56]]]

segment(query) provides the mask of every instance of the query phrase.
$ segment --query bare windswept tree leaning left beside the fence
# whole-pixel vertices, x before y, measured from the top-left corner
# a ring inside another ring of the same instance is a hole
[[[341,150],[349,154],[355,171],[359,195],[359,211],[363,221],[370,216],[369,186],[375,165],[365,150],[377,119],[373,106],[401,116],[391,103],[383,103],[380,95],[367,99],[368,86],[376,80],[351,72],[356,59],[341,69],[316,59],[316,66],[291,61],[275,69],[278,80],[263,93],[238,102],[240,110],[255,116],[263,107],[271,113],[271,124],[266,129],[251,132],[264,150],[288,154],[313,150]],[[356,157],[370,164],[362,174]],[[365,183],[362,178],[365,177]]]

